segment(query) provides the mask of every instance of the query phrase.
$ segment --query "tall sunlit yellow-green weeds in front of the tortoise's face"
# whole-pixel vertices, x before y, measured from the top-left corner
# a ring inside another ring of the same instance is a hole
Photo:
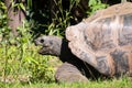
[[[4,82],[54,80],[50,56],[37,54],[29,28],[29,23],[23,21],[23,25],[18,28],[20,36],[13,37],[9,31],[0,43],[0,76]]]

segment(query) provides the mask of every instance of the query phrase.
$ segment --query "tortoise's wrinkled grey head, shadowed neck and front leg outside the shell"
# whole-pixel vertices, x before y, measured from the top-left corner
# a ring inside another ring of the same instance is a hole
[[[66,40],[44,35],[36,38],[34,43],[42,46],[40,54],[57,56],[64,63],[55,74],[56,81],[88,81],[89,77],[99,77],[98,72],[72,54]]]

